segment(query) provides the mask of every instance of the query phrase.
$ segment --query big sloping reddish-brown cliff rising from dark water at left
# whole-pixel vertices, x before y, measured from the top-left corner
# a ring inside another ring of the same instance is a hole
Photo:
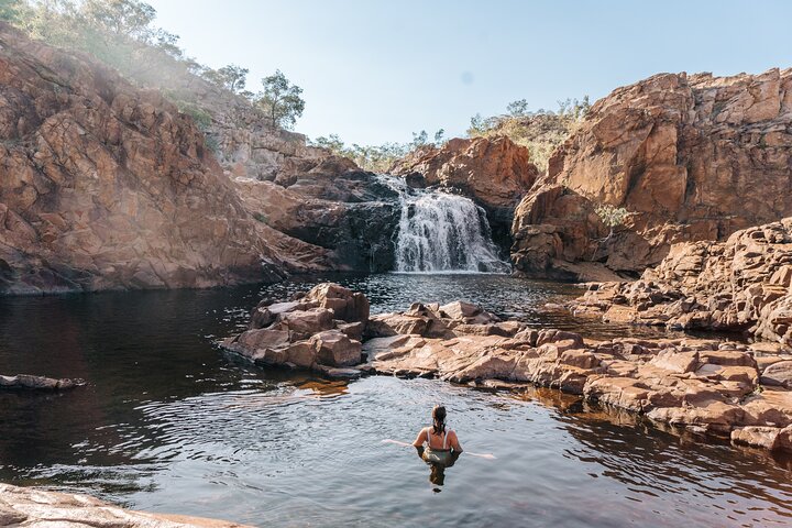
[[[282,276],[282,233],[245,211],[160,92],[0,24],[0,293],[202,287]]]

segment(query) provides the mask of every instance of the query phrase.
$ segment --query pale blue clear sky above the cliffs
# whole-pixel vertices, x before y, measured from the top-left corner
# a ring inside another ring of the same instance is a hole
[[[280,69],[304,89],[295,130],[407,142],[475,113],[592,101],[662,72],[792,67],[790,0],[147,0],[198,62]]]

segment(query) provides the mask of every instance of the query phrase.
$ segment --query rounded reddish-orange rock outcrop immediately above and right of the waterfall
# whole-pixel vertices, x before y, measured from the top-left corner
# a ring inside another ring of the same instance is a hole
[[[528,148],[508,138],[458,138],[442,147],[425,146],[392,173],[408,185],[448,187],[472,198],[486,211],[495,241],[506,246],[515,207],[539,177]]]

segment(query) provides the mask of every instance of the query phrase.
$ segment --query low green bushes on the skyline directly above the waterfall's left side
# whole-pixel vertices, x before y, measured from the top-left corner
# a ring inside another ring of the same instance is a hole
[[[310,144],[327,148],[337,156],[349,157],[365,170],[386,173],[394,163],[410,152],[428,145],[441,145],[444,135],[446,131],[440,129],[435,133],[435,142],[430,142],[429,134],[426,130],[421,130],[420,132],[413,132],[413,141],[409,143],[384,143],[382,145],[359,145],[353,143],[346,146],[338,134],[330,134],[329,136],[317,138]]]

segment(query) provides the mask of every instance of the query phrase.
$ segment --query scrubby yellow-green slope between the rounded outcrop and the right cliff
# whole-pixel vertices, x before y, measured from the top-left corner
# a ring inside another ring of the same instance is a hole
[[[558,101],[558,110],[539,109],[530,111],[528,101],[519,99],[508,103],[506,114],[482,118],[476,113],[471,118],[468,135],[470,138],[493,138],[505,135],[530,152],[531,161],[542,170],[558,145],[574,131],[578,123],[591,108],[588,96],[582,100],[566,99]]]

